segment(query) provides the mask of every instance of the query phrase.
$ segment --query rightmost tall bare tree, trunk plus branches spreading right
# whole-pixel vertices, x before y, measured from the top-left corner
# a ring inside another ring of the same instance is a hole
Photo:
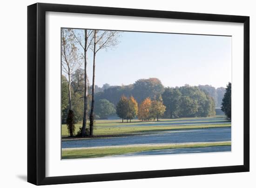
[[[92,103],[90,112],[90,136],[93,136],[94,126],[94,89],[95,89],[95,59],[99,50],[116,46],[119,41],[118,37],[120,32],[106,31],[106,30],[93,30],[93,46],[90,49],[93,51],[93,83],[92,83]]]

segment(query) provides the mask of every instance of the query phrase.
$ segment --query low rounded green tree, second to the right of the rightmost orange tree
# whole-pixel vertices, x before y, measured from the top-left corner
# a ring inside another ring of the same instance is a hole
[[[193,117],[198,111],[197,101],[194,101],[189,96],[181,97],[180,116]]]

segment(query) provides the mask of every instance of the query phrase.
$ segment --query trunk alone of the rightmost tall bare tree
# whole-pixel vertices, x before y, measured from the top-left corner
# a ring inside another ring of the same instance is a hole
[[[91,114],[90,114],[90,136],[93,136],[93,126],[94,126],[95,56],[96,56],[96,30],[94,30],[94,60],[93,60],[92,104],[91,104]]]

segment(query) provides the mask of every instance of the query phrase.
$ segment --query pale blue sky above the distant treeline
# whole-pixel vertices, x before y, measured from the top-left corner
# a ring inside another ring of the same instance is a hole
[[[231,37],[122,32],[120,43],[96,55],[95,84],[128,85],[158,78],[165,87],[231,82]],[[92,53],[88,75],[92,82]]]

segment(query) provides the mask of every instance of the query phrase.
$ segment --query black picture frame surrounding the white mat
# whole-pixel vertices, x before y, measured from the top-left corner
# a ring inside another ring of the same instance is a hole
[[[46,177],[46,12],[243,23],[243,165]],[[249,171],[249,16],[36,3],[27,7],[27,181],[35,185]]]

